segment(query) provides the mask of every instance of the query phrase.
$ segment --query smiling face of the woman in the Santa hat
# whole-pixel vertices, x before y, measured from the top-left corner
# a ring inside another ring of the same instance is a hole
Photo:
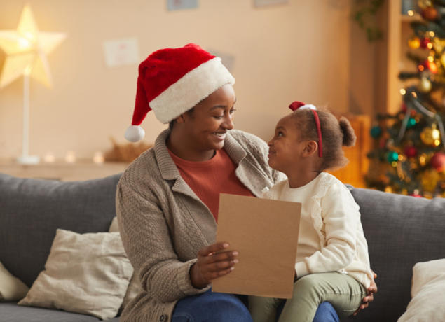
[[[223,148],[227,131],[233,129],[235,101],[235,91],[228,84],[199,102],[192,113],[183,114],[189,141],[197,151]]]

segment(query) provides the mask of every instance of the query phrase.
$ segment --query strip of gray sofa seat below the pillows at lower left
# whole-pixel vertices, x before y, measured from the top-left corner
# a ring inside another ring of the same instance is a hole
[[[99,318],[83,314],[59,311],[57,309],[41,309],[40,307],[19,307],[15,302],[0,303],[1,322],[99,322]],[[107,322],[118,322],[112,318]]]

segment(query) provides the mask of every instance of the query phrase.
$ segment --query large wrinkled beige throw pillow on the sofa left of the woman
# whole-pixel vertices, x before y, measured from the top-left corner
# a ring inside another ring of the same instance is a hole
[[[131,275],[117,232],[78,234],[58,229],[45,270],[18,304],[114,318]]]

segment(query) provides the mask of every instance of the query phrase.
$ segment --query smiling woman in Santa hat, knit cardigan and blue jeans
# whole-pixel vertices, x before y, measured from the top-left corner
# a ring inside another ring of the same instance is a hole
[[[210,291],[238,262],[227,243],[214,244],[219,193],[258,196],[284,177],[268,167],[265,142],[232,130],[234,83],[221,59],[194,44],[158,50],[139,65],[125,137],[142,139],[139,124],[151,109],[170,128],[118,183],[121,237],[143,288],[121,321],[252,321],[240,297]],[[330,304],[317,316],[338,321]]]

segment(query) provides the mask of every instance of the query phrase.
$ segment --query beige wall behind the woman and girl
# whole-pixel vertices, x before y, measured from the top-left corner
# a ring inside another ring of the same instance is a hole
[[[357,26],[350,0],[289,0],[262,8],[253,0],[199,0],[198,9],[181,11],[167,11],[164,0],[28,2],[41,31],[67,34],[48,56],[54,86],[31,80],[30,154],[51,151],[63,158],[72,150],[90,158],[111,147],[110,137],[124,142],[137,64],[105,66],[102,42],[118,38],[136,37],[141,60],[158,48],[189,42],[235,56],[235,125],[263,139],[295,99],[338,113],[350,106],[361,113],[373,108],[373,65],[364,65],[371,54],[363,34],[351,34]],[[0,30],[18,26],[24,4],[0,0]],[[361,39],[358,49],[351,36]],[[351,64],[355,55],[360,59]],[[152,112],[142,126],[149,142],[165,128]],[[0,90],[0,158],[20,155],[21,139],[19,78]]]

